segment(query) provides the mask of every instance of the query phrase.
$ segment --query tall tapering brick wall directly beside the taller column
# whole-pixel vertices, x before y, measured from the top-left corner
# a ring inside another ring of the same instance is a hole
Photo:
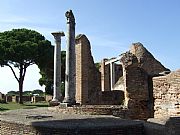
[[[100,102],[101,75],[91,55],[90,42],[85,35],[76,37],[76,102]]]

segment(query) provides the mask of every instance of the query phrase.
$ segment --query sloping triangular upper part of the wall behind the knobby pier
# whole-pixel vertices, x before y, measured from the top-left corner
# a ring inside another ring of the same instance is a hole
[[[143,68],[150,76],[169,70],[156,60],[141,43],[133,43],[130,52],[138,58],[139,67]]]

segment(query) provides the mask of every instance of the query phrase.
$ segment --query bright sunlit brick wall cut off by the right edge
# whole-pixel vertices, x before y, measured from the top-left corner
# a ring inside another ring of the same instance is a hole
[[[180,116],[180,70],[153,78],[154,117]]]

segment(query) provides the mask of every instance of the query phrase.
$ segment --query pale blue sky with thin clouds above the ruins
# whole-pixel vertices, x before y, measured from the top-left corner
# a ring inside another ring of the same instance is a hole
[[[167,68],[180,68],[179,0],[1,0],[0,6],[1,32],[29,28],[54,44],[51,32],[66,32],[64,13],[72,9],[76,34],[89,38],[95,61],[118,56],[131,43],[141,42]],[[8,72],[0,68],[2,92],[18,89]],[[38,72],[35,66],[28,69],[24,90],[41,88]]]

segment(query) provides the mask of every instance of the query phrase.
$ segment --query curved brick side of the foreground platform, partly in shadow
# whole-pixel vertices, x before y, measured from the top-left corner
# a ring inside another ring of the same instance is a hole
[[[48,124],[42,125],[41,122],[34,122],[32,125],[23,125],[0,121],[0,135],[144,135],[143,125],[129,124],[120,126],[97,126],[97,127],[68,127],[61,128],[48,127]]]

